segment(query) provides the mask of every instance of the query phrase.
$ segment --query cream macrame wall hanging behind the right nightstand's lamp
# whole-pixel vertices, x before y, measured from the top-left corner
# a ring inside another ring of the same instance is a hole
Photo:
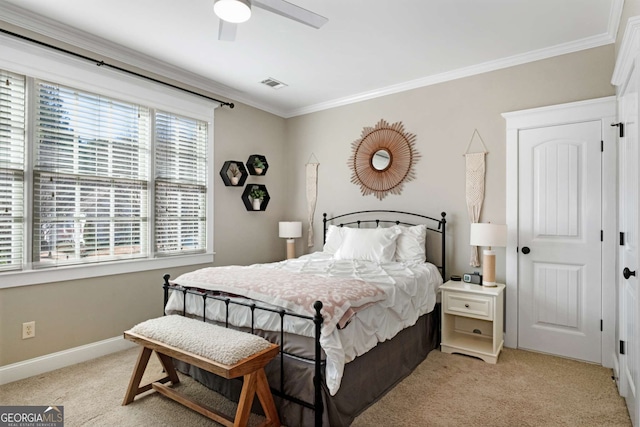
[[[470,153],[473,138],[478,135],[480,144],[484,151],[478,153]],[[467,145],[467,151],[464,154],[466,162],[466,190],[467,190],[467,211],[469,213],[469,221],[477,223],[480,219],[480,211],[482,210],[482,202],[484,201],[484,174],[485,174],[485,156],[489,154],[484,141],[478,133],[478,129],[471,134],[471,140]],[[471,267],[480,267],[480,258],[478,255],[478,247],[471,246],[471,258],[469,260]]]

